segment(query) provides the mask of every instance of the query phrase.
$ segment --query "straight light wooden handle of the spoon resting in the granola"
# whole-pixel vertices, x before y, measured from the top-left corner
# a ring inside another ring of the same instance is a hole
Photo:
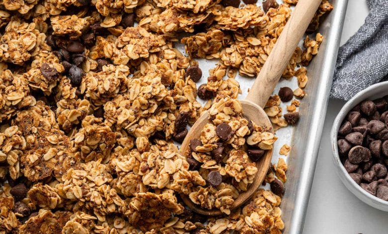
[[[264,108],[321,0],[299,0],[246,100]]]

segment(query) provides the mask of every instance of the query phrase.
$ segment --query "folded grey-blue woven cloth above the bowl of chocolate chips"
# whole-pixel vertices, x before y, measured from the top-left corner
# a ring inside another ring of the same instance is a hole
[[[367,4],[365,24],[339,49],[331,98],[349,100],[388,80],[388,0],[367,0]]]

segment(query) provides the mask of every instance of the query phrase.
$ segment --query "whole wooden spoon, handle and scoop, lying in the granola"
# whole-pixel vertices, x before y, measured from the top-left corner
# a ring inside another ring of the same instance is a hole
[[[243,108],[243,115],[248,117],[256,124],[261,125],[265,129],[270,129],[273,132],[272,124],[263,108],[268,99],[271,97],[283,71],[286,69],[300,38],[303,36],[315,14],[321,0],[299,0],[293,10],[289,21],[284,27],[282,34],[278,38],[272,52],[267,58],[260,74],[255,80],[247,98],[240,100]],[[180,153],[186,156],[189,151],[189,143],[191,139],[199,138],[201,130],[206,123],[209,123],[208,112],[204,112],[199,117],[187,134],[182,143]],[[267,150],[266,154],[256,163],[258,172],[254,178],[254,182],[249,185],[248,190],[240,193],[240,196],[234,201],[230,210],[234,210],[248,201],[255,191],[263,182],[267,171],[271,164],[273,150]],[[207,216],[218,216],[223,213],[218,209],[206,210],[194,204],[191,199],[182,195],[185,204],[194,212]]]

